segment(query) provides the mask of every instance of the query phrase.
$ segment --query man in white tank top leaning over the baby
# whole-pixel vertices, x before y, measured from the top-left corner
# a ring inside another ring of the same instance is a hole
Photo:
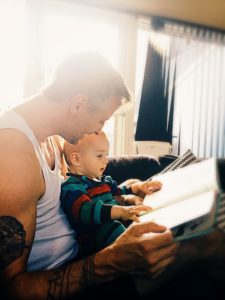
[[[98,132],[129,100],[98,54],[67,58],[41,93],[0,117],[0,282],[9,299],[68,299],[121,274],[157,276],[176,245],[165,227],[131,226],[115,243],[76,261],[75,233],[60,203],[60,135]],[[32,272],[31,272],[32,271]]]

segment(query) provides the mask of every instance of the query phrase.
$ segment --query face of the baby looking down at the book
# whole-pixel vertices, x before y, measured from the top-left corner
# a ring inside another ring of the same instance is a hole
[[[91,141],[80,154],[81,169],[85,176],[102,176],[108,163],[109,142],[104,136]]]

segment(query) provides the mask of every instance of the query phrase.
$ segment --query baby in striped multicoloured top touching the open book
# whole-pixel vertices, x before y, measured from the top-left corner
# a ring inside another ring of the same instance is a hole
[[[86,256],[111,244],[126,228],[123,220],[138,222],[138,216],[151,208],[143,199],[128,194],[150,194],[161,188],[160,182],[135,182],[117,186],[110,176],[103,176],[108,163],[109,142],[104,132],[83,137],[77,144],[64,144],[68,177],[62,184],[61,205],[76,230],[80,255]],[[124,201],[121,201],[123,199]],[[137,205],[140,204],[140,205]]]

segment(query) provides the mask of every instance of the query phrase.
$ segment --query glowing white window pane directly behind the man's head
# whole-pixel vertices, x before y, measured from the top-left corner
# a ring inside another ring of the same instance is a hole
[[[65,56],[80,51],[97,51],[118,69],[119,30],[115,24],[78,15],[49,14],[45,18],[42,47],[45,83]],[[104,126],[110,145],[113,144],[113,122],[111,118]]]

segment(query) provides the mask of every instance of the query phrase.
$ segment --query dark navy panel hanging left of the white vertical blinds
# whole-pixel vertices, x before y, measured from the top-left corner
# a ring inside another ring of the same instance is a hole
[[[169,95],[169,71],[162,55],[149,43],[135,132],[136,141],[172,142],[174,99]]]

